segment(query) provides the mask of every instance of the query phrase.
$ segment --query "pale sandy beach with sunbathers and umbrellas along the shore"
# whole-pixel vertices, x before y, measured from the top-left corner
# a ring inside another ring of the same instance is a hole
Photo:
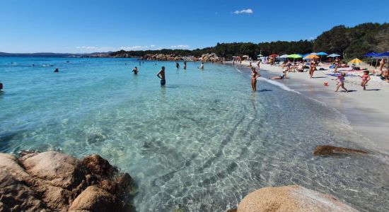
[[[248,61],[243,61],[238,66],[247,67],[248,64]],[[255,62],[252,62],[252,65],[257,67]],[[281,75],[282,68],[261,64],[260,71],[262,78],[270,78]],[[290,72],[287,73],[286,79],[274,81],[284,83],[302,95],[334,107],[347,117],[355,131],[372,142],[372,148],[389,153],[389,100],[387,98],[389,83],[382,81],[378,76],[371,76],[367,90],[363,90],[359,76],[347,76],[345,88],[351,92],[340,92],[342,90],[340,88],[339,92],[335,93],[336,77],[328,75],[330,73],[331,70],[315,71],[314,78],[310,79],[307,72]],[[361,73],[355,75],[357,74]],[[328,86],[324,86],[325,82],[328,82]]]

